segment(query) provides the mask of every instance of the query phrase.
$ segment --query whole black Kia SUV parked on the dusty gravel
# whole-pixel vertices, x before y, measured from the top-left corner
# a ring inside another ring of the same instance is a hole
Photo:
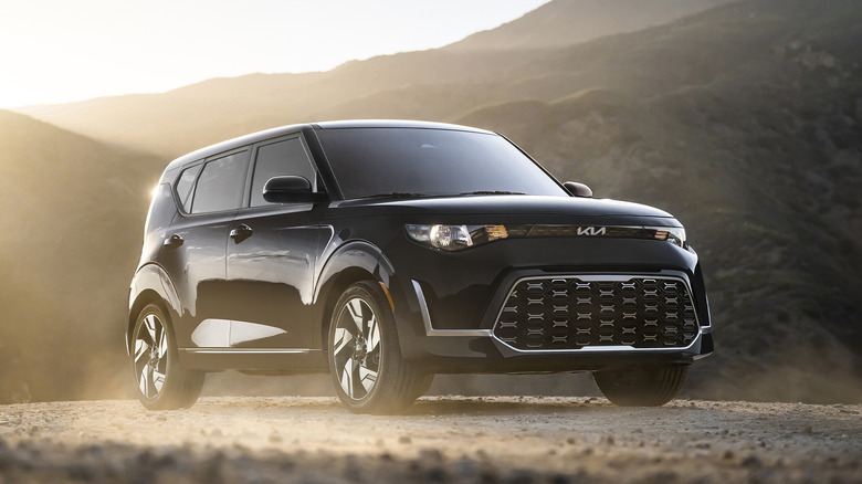
[[[439,372],[592,371],[671,400],[712,353],[697,255],[670,214],[560,183],[501,135],[418,122],[286,126],[165,169],[126,345],[149,409],[207,371],[328,371],[389,412]]]

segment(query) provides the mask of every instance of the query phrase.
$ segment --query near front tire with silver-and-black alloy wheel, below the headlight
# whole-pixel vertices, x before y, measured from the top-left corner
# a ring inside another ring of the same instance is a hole
[[[374,281],[353,284],[338,298],[327,348],[335,391],[357,413],[402,411],[429,380],[401,357],[395,316]]]

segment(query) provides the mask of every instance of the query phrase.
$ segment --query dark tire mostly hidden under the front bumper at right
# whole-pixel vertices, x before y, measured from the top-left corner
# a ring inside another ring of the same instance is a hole
[[[687,365],[663,365],[596,371],[592,377],[613,404],[661,407],[676,397],[687,373]]]

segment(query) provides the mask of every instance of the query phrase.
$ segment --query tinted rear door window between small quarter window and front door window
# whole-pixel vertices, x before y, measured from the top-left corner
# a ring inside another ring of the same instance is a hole
[[[195,189],[191,213],[240,208],[249,166],[249,151],[212,160],[203,166]]]

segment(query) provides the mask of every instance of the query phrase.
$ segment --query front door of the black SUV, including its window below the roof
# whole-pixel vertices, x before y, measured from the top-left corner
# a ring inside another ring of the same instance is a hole
[[[253,149],[244,208],[231,223],[227,280],[231,301],[230,346],[248,349],[312,347],[312,298],[319,227],[312,203],[269,203],[263,186],[294,175],[316,190],[317,171],[297,133]]]

